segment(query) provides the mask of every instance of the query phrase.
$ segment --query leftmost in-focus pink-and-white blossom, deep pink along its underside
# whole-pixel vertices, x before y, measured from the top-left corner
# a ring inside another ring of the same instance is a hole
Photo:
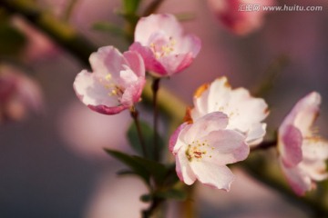
[[[93,73],[77,74],[74,89],[78,98],[101,114],[118,114],[138,103],[146,83],[145,66],[136,52],[120,54],[105,46],[90,55]]]

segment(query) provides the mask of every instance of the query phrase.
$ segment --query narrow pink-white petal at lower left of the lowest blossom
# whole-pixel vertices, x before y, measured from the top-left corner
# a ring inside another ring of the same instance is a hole
[[[176,171],[179,180],[183,183],[192,184],[195,182],[196,176],[190,168],[190,162],[183,149],[180,149],[176,155]]]

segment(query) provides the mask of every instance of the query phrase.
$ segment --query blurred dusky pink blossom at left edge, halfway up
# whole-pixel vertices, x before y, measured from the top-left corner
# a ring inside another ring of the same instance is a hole
[[[41,90],[34,80],[9,65],[0,66],[0,123],[23,119],[28,110],[42,108]]]

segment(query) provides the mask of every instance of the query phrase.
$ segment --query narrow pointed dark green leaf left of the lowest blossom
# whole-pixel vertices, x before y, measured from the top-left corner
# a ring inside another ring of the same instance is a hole
[[[125,163],[134,173],[149,184],[149,172],[144,168],[143,164],[140,164],[136,160],[135,157],[107,148],[105,148],[105,151],[112,157],[118,159],[121,163]]]

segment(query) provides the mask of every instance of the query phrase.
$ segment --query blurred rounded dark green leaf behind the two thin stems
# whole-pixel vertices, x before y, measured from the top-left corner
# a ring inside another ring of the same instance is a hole
[[[139,122],[139,124],[147,149],[147,154],[148,154],[147,157],[151,160],[154,160],[155,159],[154,130],[149,126],[149,124],[145,122]],[[158,145],[159,145],[159,154],[160,154],[160,151],[164,147],[164,140],[159,136],[159,134],[158,134],[158,139],[159,139]],[[135,123],[132,123],[128,128],[128,142],[138,154],[143,155],[142,146],[138,139],[137,126]]]

